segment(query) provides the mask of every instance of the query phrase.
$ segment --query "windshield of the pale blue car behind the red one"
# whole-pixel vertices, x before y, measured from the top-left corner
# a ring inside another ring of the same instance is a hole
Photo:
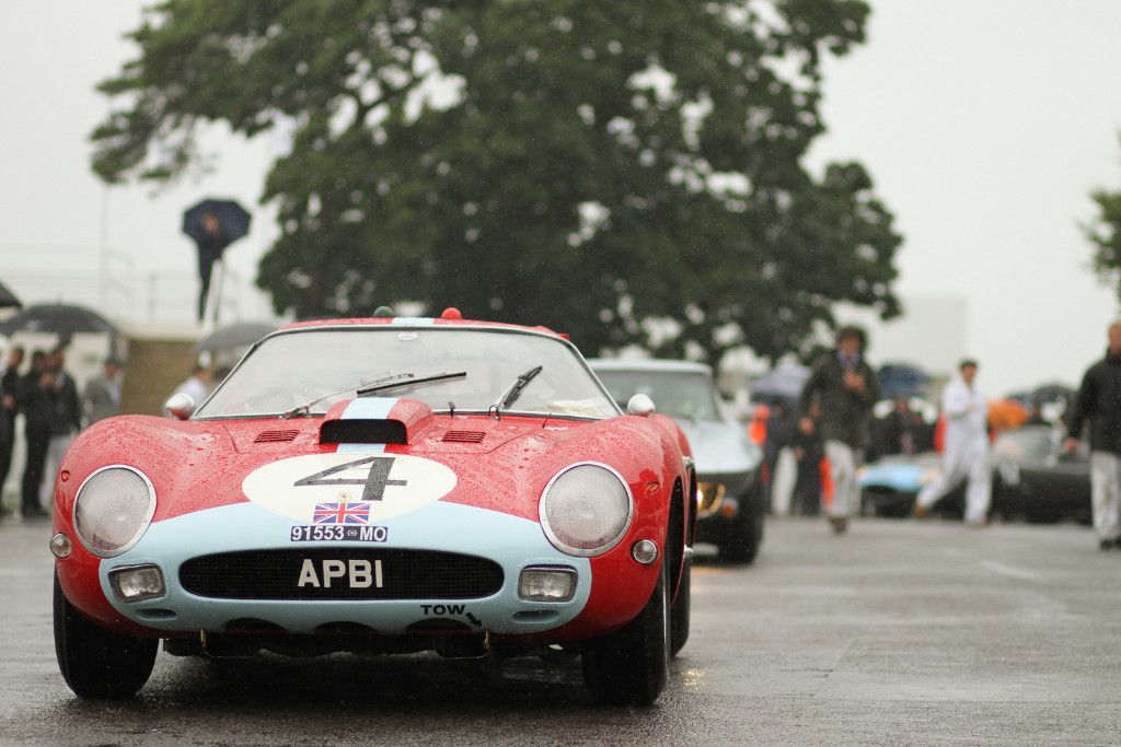
[[[658,412],[683,420],[720,420],[712,380],[693,371],[599,370],[600,381],[620,407],[646,394]]]

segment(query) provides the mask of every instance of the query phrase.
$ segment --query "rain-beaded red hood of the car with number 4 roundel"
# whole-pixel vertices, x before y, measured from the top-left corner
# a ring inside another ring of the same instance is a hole
[[[560,469],[603,463],[632,493],[649,493],[658,480],[650,466],[671,468],[674,451],[660,429],[633,415],[434,415],[414,400],[370,399],[340,403],[323,418],[112,418],[75,441],[64,480],[73,475],[81,485],[106,465],[135,467],[156,491],[157,522],[243,502],[306,523],[317,504],[349,502],[389,519],[435,501],[536,521],[541,491]],[[72,499],[73,489],[59,497]]]

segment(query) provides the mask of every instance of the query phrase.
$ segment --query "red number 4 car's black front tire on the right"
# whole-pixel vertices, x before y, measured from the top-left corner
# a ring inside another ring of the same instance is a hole
[[[611,706],[649,706],[669,679],[669,573],[665,560],[654,594],[638,617],[619,631],[590,641],[584,682]]]

